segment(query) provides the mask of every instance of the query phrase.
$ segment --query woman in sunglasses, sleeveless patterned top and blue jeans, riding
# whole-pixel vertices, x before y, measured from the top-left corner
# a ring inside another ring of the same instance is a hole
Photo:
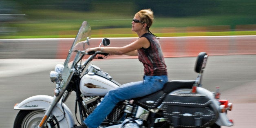
[[[80,128],[97,128],[118,102],[154,93],[168,82],[161,46],[156,36],[149,31],[153,19],[154,15],[151,9],[137,12],[132,20],[132,31],[135,31],[139,38],[126,46],[86,49],[87,53],[101,51],[113,55],[138,56],[144,66],[144,76],[142,81],[124,84],[109,90],[103,101],[84,120],[84,125]]]

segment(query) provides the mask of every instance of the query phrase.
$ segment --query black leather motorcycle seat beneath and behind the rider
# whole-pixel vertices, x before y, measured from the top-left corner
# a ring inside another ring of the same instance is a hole
[[[180,88],[192,88],[194,83],[194,80],[172,80],[166,82],[161,90],[144,97],[134,98],[133,100],[136,104],[142,106],[143,108],[157,108],[162,103],[166,95],[168,95],[168,93]]]

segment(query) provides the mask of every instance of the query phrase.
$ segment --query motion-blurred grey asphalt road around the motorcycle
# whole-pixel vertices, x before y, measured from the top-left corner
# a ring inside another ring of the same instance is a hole
[[[195,57],[166,58],[169,79],[195,79]],[[0,59],[0,128],[13,127],[18,110],[16,103],[33,95],[53,96],[55,84],[50,71],[62,59]],[[142,79],[143,66],[137,59],[106,59],[94,61],[120,84]],[[209,56],[203,76],[203,87],[215,91],[220,86],[221,99],[229,99],[234,109],[228,117],[231,128],[254,128],[256,119],[256,55]],[[74,93],[66,105],[74,113]]]

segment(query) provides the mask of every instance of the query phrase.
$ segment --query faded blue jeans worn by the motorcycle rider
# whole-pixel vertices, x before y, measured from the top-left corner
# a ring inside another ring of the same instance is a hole
[[[166,75],[144,76],[143,81],[124,84],[109,90],[99,106],[84,120],[84,124],[89,128],[97,128],[118,102],[154,93],[163,88],[166,82],[168,82]]]

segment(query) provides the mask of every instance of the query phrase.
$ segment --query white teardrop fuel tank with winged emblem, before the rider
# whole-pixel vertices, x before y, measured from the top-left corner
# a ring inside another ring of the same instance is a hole
[[[108,90],[117,88],[121,84],[115,82],[108,73],[105,73],[99,67],[90,64],[85,75],[81,78],[79,86],[84,96],[104,96],[108,93]]]

